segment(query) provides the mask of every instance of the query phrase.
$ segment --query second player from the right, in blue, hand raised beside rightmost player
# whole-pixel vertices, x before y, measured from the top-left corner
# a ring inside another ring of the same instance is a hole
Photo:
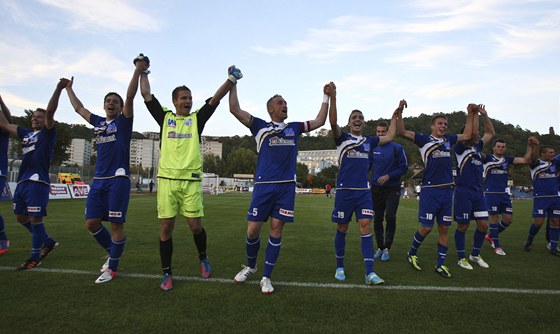
[[[523,157],[506,156],[506,142],[501,139],[494,141],[492,154],[484,157],[484,195],[488,206],[490,219],[490,233],[485,236],[486,240],[498,255],[506,255],[500,244],[500,233],[507,229],[512,223],[513,206],[511,196],[507,192],[509,167],[520,164],[529,164],[536,160],[537,148],[535,138],[527,140],[527,151]],[[502,215],[502,219],[498,218]]]

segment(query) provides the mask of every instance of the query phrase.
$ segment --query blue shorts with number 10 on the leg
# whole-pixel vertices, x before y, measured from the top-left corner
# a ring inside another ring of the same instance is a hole
[[[418,208],[418,222],[424,227],[433,227],[437,219],[440,225],[451,225],[451,205],[453,190],[451,187],[422,188]]]

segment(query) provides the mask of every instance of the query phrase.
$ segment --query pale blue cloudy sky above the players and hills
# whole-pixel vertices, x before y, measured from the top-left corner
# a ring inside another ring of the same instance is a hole
[[[466,110],[522,129],[560,133],[558,0],[2,0],[0,94],[15,116],[45,108],[61,77],[91,112],[125,96],[134,66],[151,60],[152,92],[173,109],[186,85],[199,108],[236,65],[242,109],[269,120],[281,94],[288,121],[315,119],[323,86],[337,86],[339,123]],[[140,92],[134,130],[159,131]],[[58,121],[86,124],[63,92]],[[324,129],[330,129],[328,121]],[[222,99],[203,135],[249,135]]]

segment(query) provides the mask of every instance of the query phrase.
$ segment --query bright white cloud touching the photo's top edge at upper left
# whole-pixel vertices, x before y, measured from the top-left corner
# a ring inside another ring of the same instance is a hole
[[[39,0],[67,12],[73,29],[157,31],[161,21],[122,0]],[[133,2],[134,3],[134,2]]]

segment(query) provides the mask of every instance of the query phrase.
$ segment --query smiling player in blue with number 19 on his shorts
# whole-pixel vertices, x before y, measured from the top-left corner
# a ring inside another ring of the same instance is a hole
[[[336,90],[331,93],[329,120],[337,145],[339,171],[336,178],[337,195],[334,200],[331,221],[337,224],[334,238],[336,256],[335,278],[339,281],[346,279],[344,271],[344,255],[346,253],[346,235],[348,224],[356,215],[360,230],[362,256],[365,265],[365,283],[370,285],[383,284],[385,281],[374,271],[373,237],[371,220],[373,218],[373,203],[371,198],[368,174],[370,155],[378,145],[385,145],[395,138],[395,128],[398,112],[393,113],[391,127],[385,136],[362,136],[364,115],[360,110],[353,110],[348,117],[349,133],[342,131],[337,124]],[[401,100],[397,110],[406,106]]]

